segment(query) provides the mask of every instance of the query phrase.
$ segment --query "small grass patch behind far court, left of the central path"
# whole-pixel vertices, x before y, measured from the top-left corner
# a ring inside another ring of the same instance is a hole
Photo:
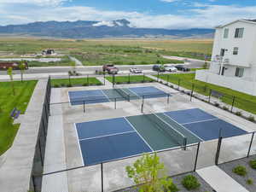
[[[102,82],[100,82],[96,78],[79,78],[79,79],[70,79],[70,84],[72,85],[102,85]],[[69,79],[51,79],[51,85],[53,87],[58,87],[58,86],[67,86],[69,85]]]

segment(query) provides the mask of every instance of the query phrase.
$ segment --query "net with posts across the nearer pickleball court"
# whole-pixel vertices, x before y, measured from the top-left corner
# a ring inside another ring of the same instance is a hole
[[[154,113],[152,110],[149,109],[147,106],[147,113],[145,113],[145,103],[143,104],[143,114],[147,117],[152,123],[156,125],[160,131],[165,131],[169,137],[172,137],[174,141],[176,141],[184,148],[187,145],[187,137],[185,137],[180,131],[182,125],[179,125],[176,121],[170,119],[170,123],[166,122],[166,120],[160,118],[157,113]],[[149,112],[149,113],[148,113]],[[171,123],[172,122],[172,123]]]

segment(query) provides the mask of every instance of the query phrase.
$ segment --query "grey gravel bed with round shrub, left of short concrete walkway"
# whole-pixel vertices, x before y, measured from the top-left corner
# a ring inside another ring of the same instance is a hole
[[[201,183],[201,187],[199,189],[195,189],[195,190],[187,190],[183,187],[182,179],[183,177],[185,177],[186,175],[194,175],[195,177],[197,177],[199,183]],[[212,187],[204,180],[202,179],[196,172],[190,172],[190,173],[186,173],[186,174],[181,174],[181,175],[177,175],[172,177],[172,181],[173,183],[176,184],[177,188],[179,189],[178,192],[212,192],[213,189]],[[126,188],[126,189],[122,189],[122,190],[117,190],[115,192],[138,192],[137,189],[134,188]]]

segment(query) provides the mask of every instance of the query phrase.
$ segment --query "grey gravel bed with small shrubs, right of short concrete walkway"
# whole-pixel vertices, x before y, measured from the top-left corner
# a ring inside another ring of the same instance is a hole
[[[224,172],[230,175],[230,177],[234,178],[237,183],[240,183],[244,188],[246,188],[250,192],[256,191],[256,170],[252,169],[249,166],[250,160],[255,160],[256,155],[253,155],[249,158],[243,158],[241,160],[234,160],[228,163],[224,163],[219,165]],[[236,173],[232,172],[232,169],[236,166],[245,166],[247,168],[247,175],[245,177],[239,176]],[[253,180],[253,184],[247,184],[247,179],[250,178]]]

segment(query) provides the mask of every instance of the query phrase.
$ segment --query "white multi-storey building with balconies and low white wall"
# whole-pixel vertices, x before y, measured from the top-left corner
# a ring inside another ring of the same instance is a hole
[[[195,79],[256,96],[256,20],[217,26],[210,68]]]

